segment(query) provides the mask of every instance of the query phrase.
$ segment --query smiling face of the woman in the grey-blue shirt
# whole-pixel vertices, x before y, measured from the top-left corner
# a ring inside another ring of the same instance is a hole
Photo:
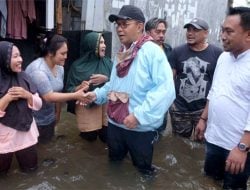
[[[67,59],[67,53],[68,53],[68,46],[66,43],[63,43],[63,45],[56,51],[55,55],[50,55],[52,62],[55,65],[64,66],[65,61]]]

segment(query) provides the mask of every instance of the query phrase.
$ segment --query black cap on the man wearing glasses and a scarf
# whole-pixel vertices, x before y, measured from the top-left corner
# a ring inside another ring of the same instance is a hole
[[[118,19],[124,19],[124,20],[133,19],[143,23],[145,22],[145,17],[143,15],[142,10],[134,5],[124,5],[120,9],[118,15],[115,14],[109,15],[110,22],[114,22]]]

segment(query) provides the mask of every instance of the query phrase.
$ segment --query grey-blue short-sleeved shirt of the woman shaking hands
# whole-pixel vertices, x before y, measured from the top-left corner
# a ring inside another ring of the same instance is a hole
[[[44,58],[38,58],[30,63],[25,72],[36,84],[38,93],[45,95],[49,92],[60,92],[63,89],[64,69],[56,65],[56,76],[53,75]],[[56,120],[55,103],[43,100],[43,106],[39,111],[34,112],[37,125],[48,125]]]

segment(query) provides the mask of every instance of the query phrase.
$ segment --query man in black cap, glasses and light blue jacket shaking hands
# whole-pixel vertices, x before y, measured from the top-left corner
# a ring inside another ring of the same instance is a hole
[[[164,52],[143,33],[145,18],[133,5],[111,14],[121,48],[110,81],[86,94],[87,101],[108,101],[108,148],[111,161],[129,152],[141,172],[152,172],[153,143],[164,113],[175,98],[172,70]]]

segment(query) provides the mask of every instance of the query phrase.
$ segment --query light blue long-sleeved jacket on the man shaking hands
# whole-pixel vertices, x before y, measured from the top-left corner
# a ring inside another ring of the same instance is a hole
[[[117,76],[116,65],[115,60],[110,81],[95,89],[96,103],[105,103],[110,91],[128,93],[129,112],[134,114],[139,125],[128,129],[110,118],[109,122],[134,131],[153,131],[160,127],[164,114],[175,99],[173,73],[162,49],[151,41],[146,42],[123,78]]]

